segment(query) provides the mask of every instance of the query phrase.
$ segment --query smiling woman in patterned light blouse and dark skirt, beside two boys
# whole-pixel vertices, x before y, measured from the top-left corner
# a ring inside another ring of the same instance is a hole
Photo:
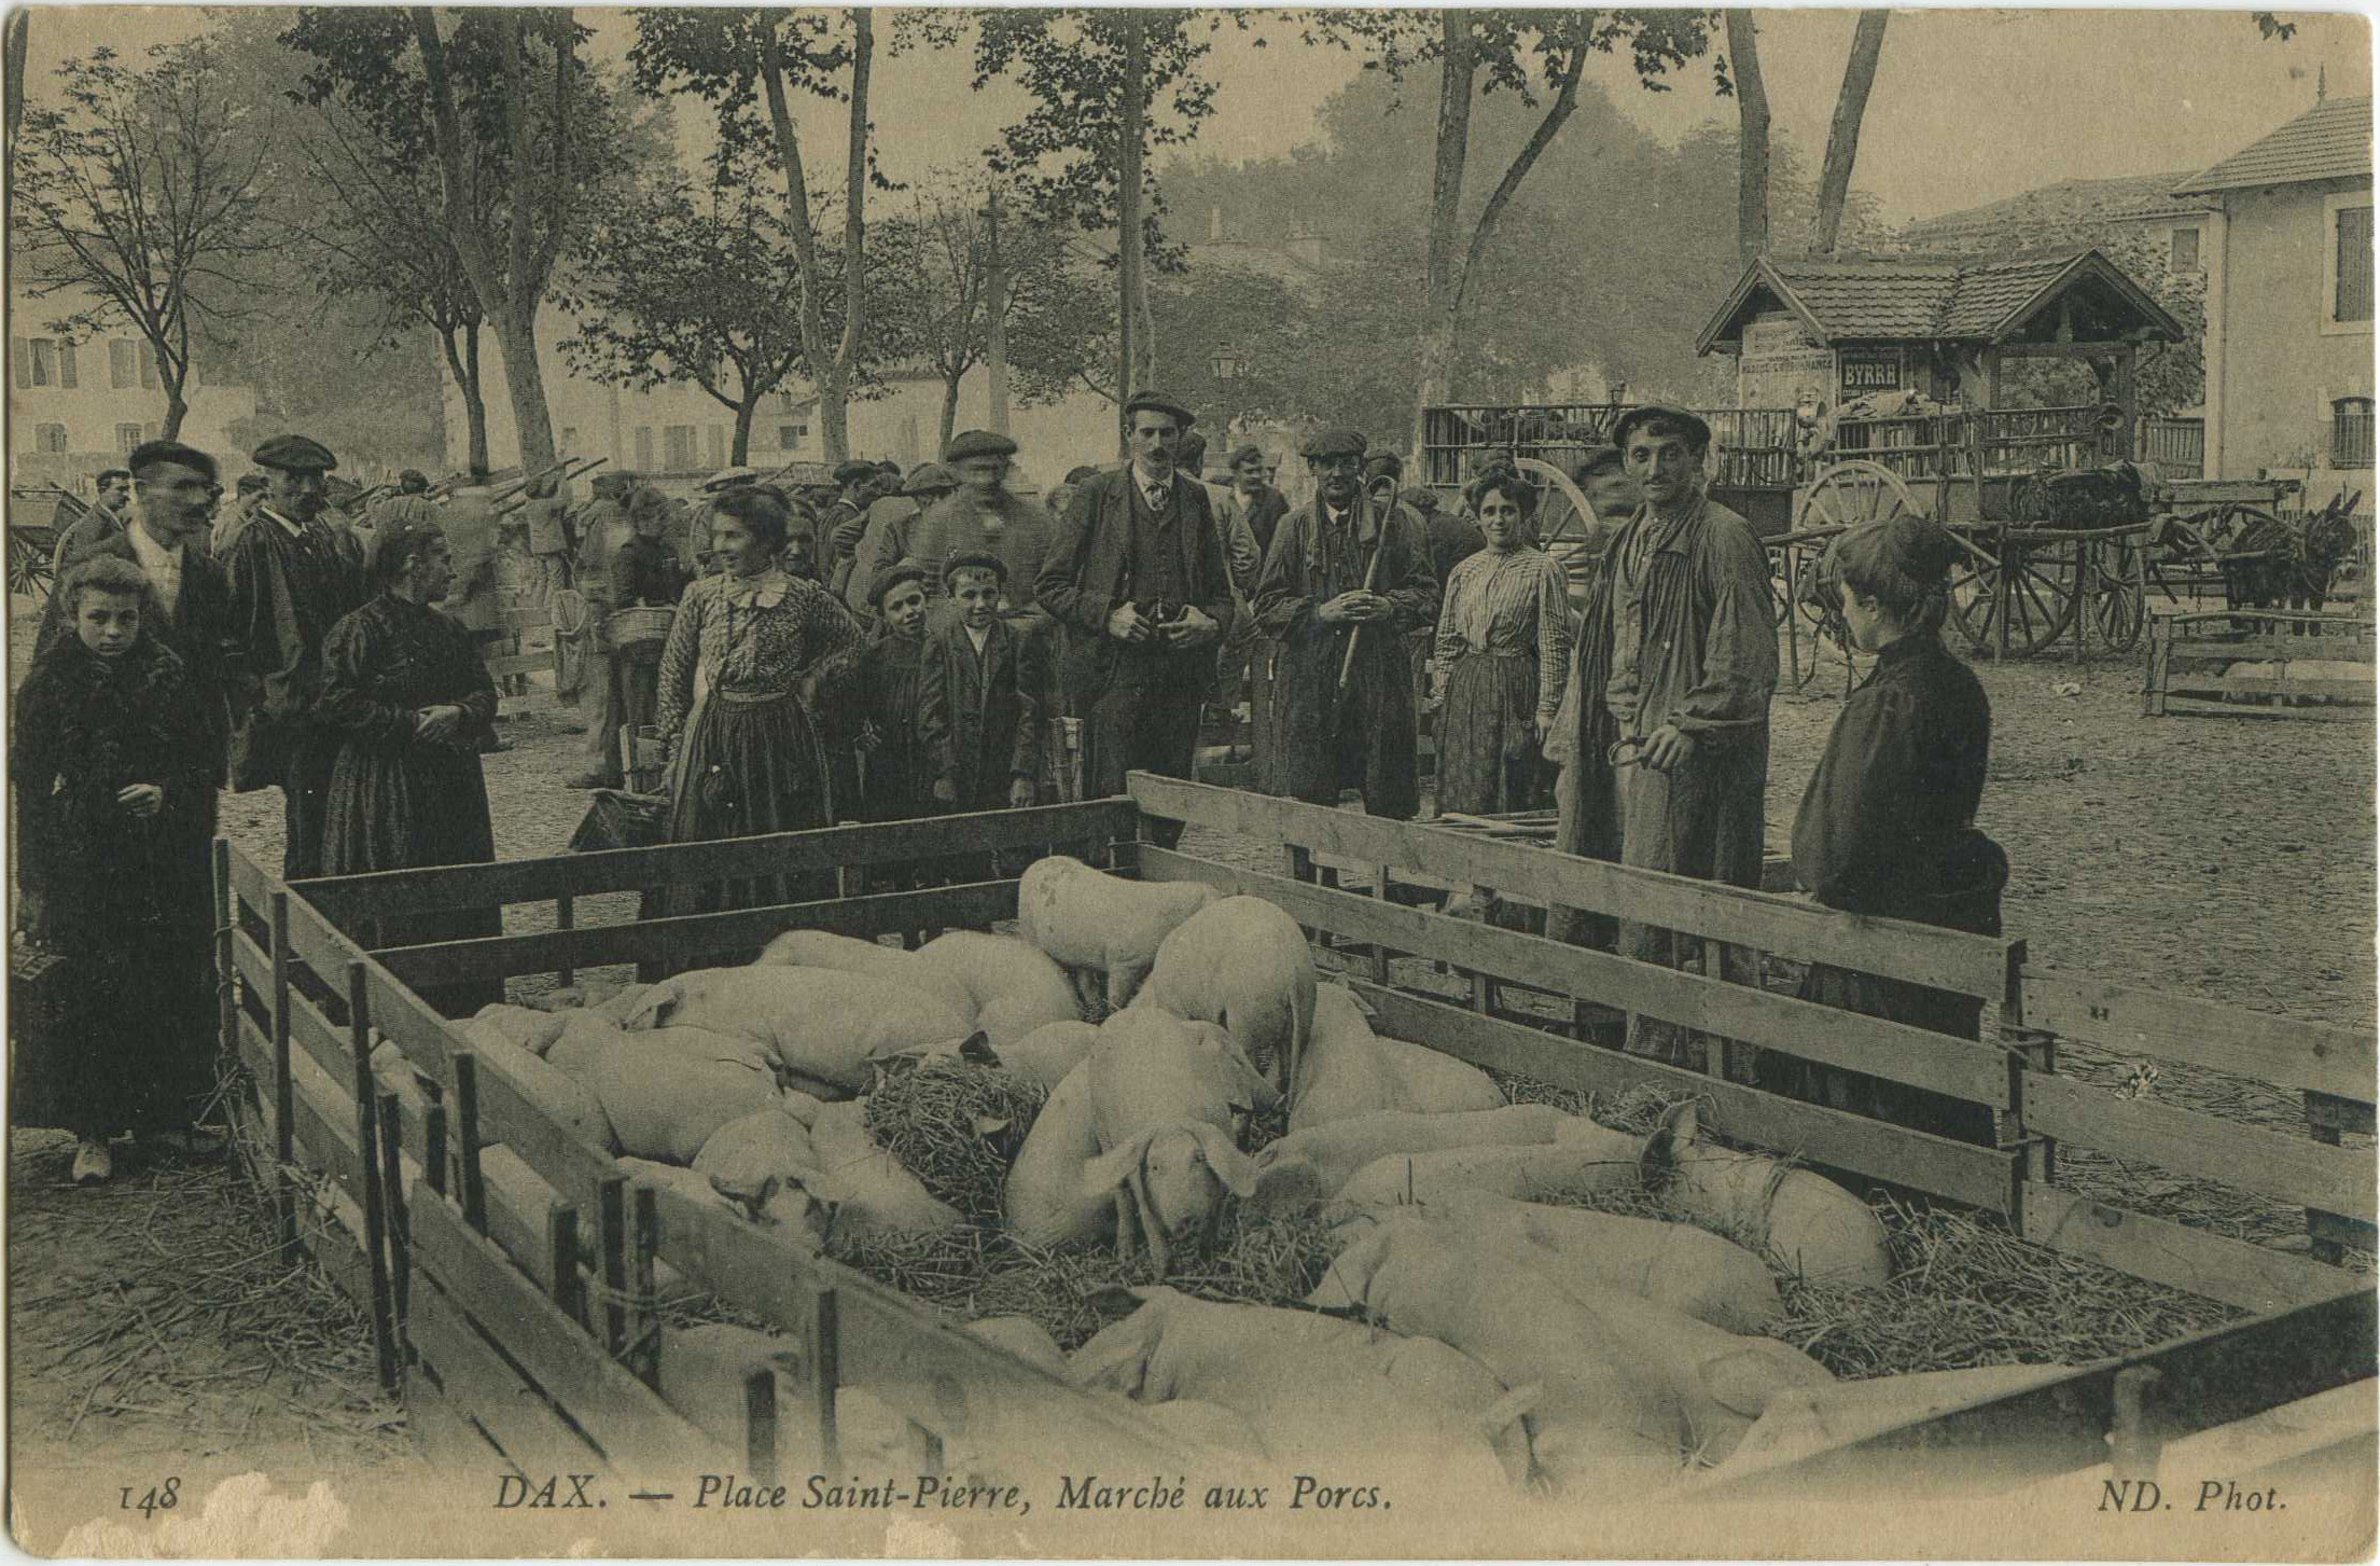
[[[764,488],[712,500],[712,552],[726,564],[685,590],[662,647],[659,728],[676,740],[669,840],[752,838],[835,819],[826,745],[809,685],[857,631],[826,588],[781,564],[793,524]],[[674,885],[647,895],[647,916],[707,914],[833,895],[833,878],[759,876]]]

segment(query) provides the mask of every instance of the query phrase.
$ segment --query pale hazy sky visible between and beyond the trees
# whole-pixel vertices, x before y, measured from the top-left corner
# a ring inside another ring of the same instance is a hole
[[[2332,95],[2370,93],[2363,14],[2282,14],[2299,24],[2285,43],[2266,40],[2235,10],[1894,10],[1854,186],[1906,221],[2063,178],[2194,171],[2309,109],[2318,71]],[[595,29],[597,57],[624,55],[633,36],[626,12],[581,7],[578,17]],[[1773,129],[1814,159],[1825,145],[1852,19],[1847,10],[1761,10]],[[195,26],[190,10],[36,10],[31,93],[57,59],[90,43],[121,48]],[[1216,33],[1209,71],[1221,86],[1197,150],[1250,159],[1311,143],[1321,105],[1357,64],[1302,45],[1283,14],[1252,12],[1245,31]],[[973,93],[969,79],[964,48],[881,62],[873,119],[892,178],[971,167],[1019,112],[1014,88]],[[1706,62],[1678,71],[1668,93],[1637,88],[1621,57],[1592,62],[1590,81],[1666,140],[1735,114],[1735,102],[1711,90]],[[1428,88],[1416,90],[1411,112],[1433,112]],[[812,100],[802,119],[812,183],[840,178],[840,109]]]

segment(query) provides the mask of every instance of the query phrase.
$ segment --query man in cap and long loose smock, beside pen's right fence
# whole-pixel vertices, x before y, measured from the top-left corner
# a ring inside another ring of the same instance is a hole
[[[1604,557],[1568,700],[1604,704],[1621,764],[1583,769],[1561,802],[1599,821],[1616,816],[1621,864],[1756,888],[1778,683],[1768,557],[1752,526],[1704,493],[1711,426],[1697,414],[1635,407],[1611,438],[1642,505]],[[1592,731],[1580,721],[1583,743]],[[1616,800],[1592,797],[1599,788]],[[1580,821],[1564,835],[1592,842],[1597,833]],[[1640,961],[1680,966],[1699,945],[1656,926],[1618,928],[1621,954]],[[1718,952],[1726,978],[1759,983],[1752,952]],[[1628,1019],[1630,1054],[1702,1071],[1709,1045],[1676,1023]],[[1749,1052],[1728,1050],[1728,1076],[1749,1080],[1749,1059],[1737,1054]]]

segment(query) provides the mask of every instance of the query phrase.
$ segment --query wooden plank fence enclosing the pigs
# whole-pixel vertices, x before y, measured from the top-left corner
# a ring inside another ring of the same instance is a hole
[[[1157,847],[1157,821],[1188,823],[1183,847]],[[1252,869],[1211,857],[1202,845],[1216,833],[1276,842],[1283,864]],[[1480,833],[1135,773],[1126,800],[295,888],[219,845],[219,957],[236,981],[221,992],[221,1031],[248,1069],[243,1145],[276,1195],[286,1242],[305,1242],[371,1307],[381,1373],[402,1388],[436,1461],[481,1473],[602,1473],[664,1490],[719,1461],[757,1476],[838,1473],[838,1411],[857,1388],[912,1421],[919,1473],[938,1471],[945,1452],[1021,1407],[1054,1411],[1059,1428],[1071,1428],[1066,1449],[1038,1454],[1054,1466],[1204,1471],[1209,1454],[952,1330],[921,1304],[724,1211],[633,1183],[600,1147],[547,1121],[502,1061],[476,1054],[416,997],[416,985],[462,978],[571,981],[614,964],[740,961],[788,926],[850,935],[983,928],[1016,914],[1016,881],[662,921],[633,921],[624,895],[985,850],[1073,852],[1147,881],[1200,881],[1273,900],[1328,938],[1333,950],[1319,961],[1347,969],[1383,1033],[1480,1066],[1590,1092],[1654,1083],[1699,1095],[1730,1138],[1966,1204],[2025,1242],[2251,1311],[2351,1297],[2320,1318],[2320,1335],[2299,1330],[2306,1316],[2240,1328],[2290,1330],[2299,1333],[2292,1342],[2318,1347],[2299,1354],[2290,1376],[2242,1380],[2223,1397],[2173,1397],[2161,1409],[2166,1435],[2373,1376],[2368,1278],[2128,1211],[2116,1192],[2078,1188],[2059,1159],[2061,1145],[2080,1142],[2304,1207],[2316,1257],[2335,1257],[2342,1242],[2370,1247],[2373,1154],[2323,1142],[2325,1130],[2335,1142],[2342,1128],[2373,1128],[2373,1040],[2363,1033],[2042,971],[2021,940],[1854,919]],[[1959,990],[1997,1009],[1997,1033],[1949,1040],[1449,919],[1395,897],[1404,881],[1656,919],[1706,942]],[[550,928],[395,950],[374,938],[381,914],[490,904],[543,904],[552,909]],[[1457,976],[1454,992],[1435,978],[1435,964]],[[2004,1135],[1994,1147],[1947,1142],[1576,1038],[1626,1011],[1987,1104]],[[369,1069],[376,1038],[393,1040],[438,1083],[433,1104],[407,1107],[378,1092]],[[2311,1135],[2066,1076],[2059,1047],[2068,1038],[2304,1092]],[[676,1407],[664,1395],[669,1378],[652,1330],[662,1269],[790,1335],[788,1354],[740,1388],[731,1407]],[[804,1409],[790,1426],[778,1418],[785,1388],[776,1378],[790,1380]],[[2033,1437],[2047,1414],[2011,1416],[2009,1452],[2025,1476],[2106,1464],[2109,1433],[2125,1428],[2123,1397],[2111,1399],[2109,1385],[2099,1368],[2073,1380],[2073,1395],[2054,1404],[2068,1437],[2054,1445]]]

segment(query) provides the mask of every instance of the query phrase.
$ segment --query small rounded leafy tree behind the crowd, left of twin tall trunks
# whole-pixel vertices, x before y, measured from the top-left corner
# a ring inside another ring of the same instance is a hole
[[[724,150],[707,188],[671,186],[605,212],[564,295],[578,333],[562,355],[614,386],[693,381],[735,414],[733,464],[750,459],[759,400],[802,364],[802,269],[757,171],[750,150]]]

